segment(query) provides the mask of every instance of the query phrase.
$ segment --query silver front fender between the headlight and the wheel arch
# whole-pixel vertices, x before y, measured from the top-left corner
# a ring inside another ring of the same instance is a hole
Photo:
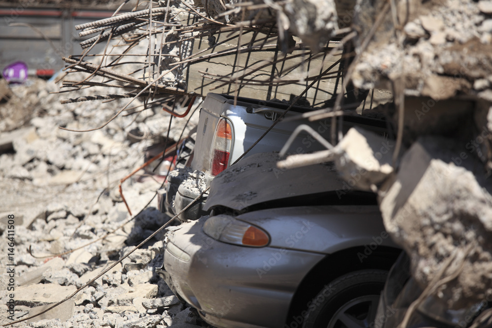
[[[270,247],[335,253],[354,246],[398,247],[384,228],[377,206],[317,206],[265,209],[237,216],[263,228]]]

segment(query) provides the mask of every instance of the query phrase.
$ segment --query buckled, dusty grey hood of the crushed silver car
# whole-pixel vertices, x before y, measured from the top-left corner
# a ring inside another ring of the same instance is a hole
[[[212,180],[204,209],[224,206],[243,210],[279,199],[330,191],[338,195],[350,189],[331,163],[280,170],[279,159],[277,152],[258,153],[224,170]]]

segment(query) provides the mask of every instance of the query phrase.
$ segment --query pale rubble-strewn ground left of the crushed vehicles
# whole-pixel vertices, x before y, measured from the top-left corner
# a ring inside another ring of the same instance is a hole
[[[122,229],[95,241],[130,219],[118,183],[143,164],[147,147],[166,135],[169,115],[148,109],[138,117],[120,116],[100,130],[70,132],[58,127],[94,128],[127,100],[61,105],[63,93],[51,94],[58,87],[44,80],[29,80],[25,85],[10,86],[10,90],[10,100],[0,103],[1,325],[11,322],[6,305],[9,293],[14,294],[15,320],[39,313],[83,286],[169,220],[155,209],[154,198]],[[179,138],[186,119],[173,120],[170,138]],[[185,134],[196,119],[197,115]],[[140,130],[145,137],[130,142],[130,129]],[[123,184],[125,199],[135,213],[161,185],[141,172]],[[15,221],[12,262],[7,261],[9,215],[14,215]],[[164,232],[75,297],[13,327],[204,325],[155,273],[163,261],[163,239]],[[95,242],[53,256],[91,241]],[[29,254],[30,248],[36,257]],[[13,292],[7,290],[7,263],[15,263]]]

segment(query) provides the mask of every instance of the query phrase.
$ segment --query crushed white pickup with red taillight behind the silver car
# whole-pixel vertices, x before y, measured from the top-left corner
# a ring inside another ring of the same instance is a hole
[[[174,216],[184,209],[210,185],[216,175],[249,149],[288,107],[288,104],[281,102],[242,97],[238,97],[235,101],[232,96],[209,93],[200,111],[196,134],[192,136],[195,146],[190,165],[170,173],[165,192],[160,191],[161,211]],[[300,124],[307,124],[321,136],[328,138],[331,119],[314,123],[307,118],[289,120],[311,110],[311,108],[293,106],[285,119],[280,121],[247,155],[279,151]],[[344,132],[354,125],[380,135],[385,135],[388,131],[384,120],[354,115],[343,116]],[[322,150],[324,147],[303,132],[293,140],[290,149],[296,153],[305,153]],[[207,194],[178,218],[186,222],[206,214],[204,210],[206,200]]]

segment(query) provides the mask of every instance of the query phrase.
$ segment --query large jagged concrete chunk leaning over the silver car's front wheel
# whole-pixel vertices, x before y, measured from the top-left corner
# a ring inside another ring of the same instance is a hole
[[[464,261],[458,278],[437,291],[451,309],[492,293],[492,184],[477,180],[470,169],[483,165],[455,145],[444,138],[419,139],[380,203],[386,230],[409,254],[412,275],[423,288],[455,252],[446,275]]]

